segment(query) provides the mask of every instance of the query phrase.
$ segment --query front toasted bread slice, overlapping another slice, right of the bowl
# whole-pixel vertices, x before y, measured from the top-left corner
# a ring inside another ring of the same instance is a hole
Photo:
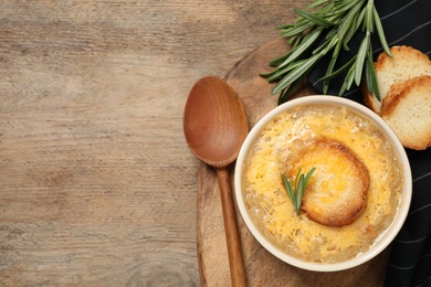
[[[381,117],[407,148],[431,146],[431,76],[393,84],[381,105]]]

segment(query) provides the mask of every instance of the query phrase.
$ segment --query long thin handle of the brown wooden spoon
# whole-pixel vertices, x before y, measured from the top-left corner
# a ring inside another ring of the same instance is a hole
[[[243,287],[246,286],[245,268],[242,257],[240,234],[236,225],[236,213],[233,206],[229,169],[227,167],[218,168],[217,178],[219,180],[220,199],[223,210],[231,281],[234,287]]]

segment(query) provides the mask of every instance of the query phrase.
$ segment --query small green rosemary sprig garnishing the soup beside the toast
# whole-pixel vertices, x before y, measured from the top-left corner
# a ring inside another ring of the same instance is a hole
[[[287,179],[286,176],[282,173],[284,187],[286,188],[288,198],[291,199],[293,205],[295,206],[296,214],[299,214],[305,187],[307,185],[315,170],[316,168],[313,168],[307,172],[306,176],[304,176],[304,173],[301,173],[301,169],[299,169],[297,171],[295,181],[292,181],[292,179]]]

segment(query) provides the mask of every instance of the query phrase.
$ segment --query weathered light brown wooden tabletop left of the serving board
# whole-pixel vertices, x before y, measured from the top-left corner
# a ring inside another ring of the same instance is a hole
[[[2,1],[0,285],[199,286],[186,98],[308,2]]]

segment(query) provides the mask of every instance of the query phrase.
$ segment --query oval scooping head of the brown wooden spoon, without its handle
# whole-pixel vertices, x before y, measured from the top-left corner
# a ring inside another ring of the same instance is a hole
[[[183,129],[192,152],[212,167],[236,159],[249,132],[245,109],[222,79],[208,76],[192,87],[185,108]]]

